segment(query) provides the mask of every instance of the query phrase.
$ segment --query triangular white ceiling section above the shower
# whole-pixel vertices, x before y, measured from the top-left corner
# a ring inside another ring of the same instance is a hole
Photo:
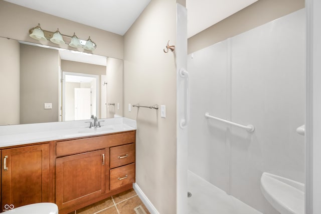
[[[186,0],[188,38],[258,0]]]

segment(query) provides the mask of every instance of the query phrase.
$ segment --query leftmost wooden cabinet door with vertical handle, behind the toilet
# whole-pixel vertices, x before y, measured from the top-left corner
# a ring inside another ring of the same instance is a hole
[[[1,156],[1,211],[6,204],[18,207],[49,201],[49,144],[4,149]]]

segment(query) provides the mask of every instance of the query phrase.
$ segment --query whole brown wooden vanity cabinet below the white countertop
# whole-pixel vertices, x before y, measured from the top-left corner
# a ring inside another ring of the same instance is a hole
[[[1,210],[55,202],[69,213],[132,188],[136,131],[2,148]]]

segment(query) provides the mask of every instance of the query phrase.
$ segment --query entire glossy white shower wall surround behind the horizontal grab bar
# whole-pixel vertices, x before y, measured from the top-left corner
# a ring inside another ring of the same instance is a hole
[[[269,172],[304,183],[304,9],[190,54],[189,170],[262,213]],[[206,119],[215,117],[238,127]]]

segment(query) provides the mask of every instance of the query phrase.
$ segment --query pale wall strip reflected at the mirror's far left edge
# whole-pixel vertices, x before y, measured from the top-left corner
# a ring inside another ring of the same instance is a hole
[[[0,38],[0,47],[0,125],[19,124],[20,47],[5,38]]]

